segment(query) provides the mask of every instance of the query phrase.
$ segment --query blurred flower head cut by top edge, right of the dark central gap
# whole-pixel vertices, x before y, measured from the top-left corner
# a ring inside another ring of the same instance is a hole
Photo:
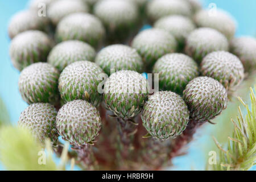
[[[191,15],[191,6],[184,0],[152,0],[147,6],[148,18],[156,20],[168,15]]]

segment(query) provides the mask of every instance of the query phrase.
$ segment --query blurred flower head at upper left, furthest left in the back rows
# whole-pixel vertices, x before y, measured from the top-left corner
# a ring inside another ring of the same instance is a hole
[[[11,39],[28,30],[46,31],[49,24],[47,17],[38,16],[38,11],[24,10],[16,13],[10,20],[8,32]]]

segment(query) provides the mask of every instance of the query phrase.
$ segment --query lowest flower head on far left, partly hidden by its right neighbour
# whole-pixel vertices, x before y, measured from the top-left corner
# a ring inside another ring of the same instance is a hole
[[[30,130],[41,143],[47,138],[57,142],[56,115],[57,111],[51,104],[31,104],[20,114],[18,126]]]

